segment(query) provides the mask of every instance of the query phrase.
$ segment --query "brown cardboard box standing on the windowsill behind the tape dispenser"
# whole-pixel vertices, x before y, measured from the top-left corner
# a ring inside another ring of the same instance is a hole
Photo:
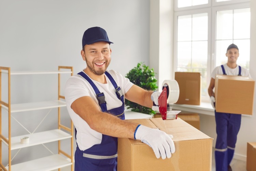
[[[200,72],[175,72],[175,80],[180,87],[180,96],[176,104],[201,103],[201,73]]]

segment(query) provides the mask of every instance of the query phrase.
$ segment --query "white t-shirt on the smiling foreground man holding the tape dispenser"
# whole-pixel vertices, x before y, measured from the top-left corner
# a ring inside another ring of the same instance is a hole
[[[113,70],[108,71],[113,79],[115,80],[117,86],[119,86],[125,96],[126,92],[132,87],[133,83],[129,81],[126,77],[115,72]],[[104,74],[105,75],[105,74]],[[88,75],[87,75],[88,76]],[[116,96],[116,91],[109,78],[105,75],[106,84],[94,81],[94,84],[99,89],[100,92],[104,92],[107,110],[120,107],[122,101],[120,101]],[[100,144],[102,139],[102,134],[91,129],[89,125],[83,120],[79,115],[77,115],[72,109],[71,104],[78,98],[83,96],[90,96],[99,106],[98,100],[96,98],[95,91],[93,87],[81,76],[73,75],[71,76],[65,85],[65,100],[67,103],[67,109],[69,115],[76,128],[76,142],[80,150],[84,151],[95,144]],[[85,102],[86,103],[86,102]],[[100,106],[99,106],[100,109]],[[100,118],[99,118],[100,119]]]

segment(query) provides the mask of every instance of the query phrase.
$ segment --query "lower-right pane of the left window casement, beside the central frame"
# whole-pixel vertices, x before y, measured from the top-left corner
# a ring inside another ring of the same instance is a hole
[[[192,42],[192,65],[195,68],[207,68],[208,42]]]

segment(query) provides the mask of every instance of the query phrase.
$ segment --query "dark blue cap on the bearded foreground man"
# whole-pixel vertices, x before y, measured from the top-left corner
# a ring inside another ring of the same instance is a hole
[[[109,41],[108,34],[103,28],[91,27],[85,30],[83,39],[82,39],[83,47],[86,44],[93,44],[100,41],[108,42],[109,44],[113,43]]]

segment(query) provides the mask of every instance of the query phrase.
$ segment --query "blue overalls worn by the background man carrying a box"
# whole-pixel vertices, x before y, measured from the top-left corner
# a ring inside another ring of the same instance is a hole
[[[222,65],[223,75],[227,75]],[[239,74],[241,76],[241,67]],[[215,110],[217,139],[215,145],[216,171],[227,171],[234,156],[237,134],[241,125],[241,115],[220,113]]]

